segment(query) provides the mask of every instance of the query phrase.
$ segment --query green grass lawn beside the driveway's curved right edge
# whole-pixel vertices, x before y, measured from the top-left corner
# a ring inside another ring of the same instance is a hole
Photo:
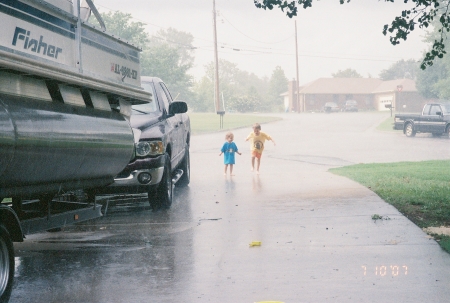
[[[450,225],[450,160],[357,164],[330,169],[370,188],[419,227]],[[436,236],[450,252],[450,237]]]

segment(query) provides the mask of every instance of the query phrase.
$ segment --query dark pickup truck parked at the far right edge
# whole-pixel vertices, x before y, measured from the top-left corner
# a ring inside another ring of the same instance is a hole
[[[450,104],[427,103],[420,114],[396,114],[394,129],[403,130],[407,137],[414,137],[416,133],[449,136]]]

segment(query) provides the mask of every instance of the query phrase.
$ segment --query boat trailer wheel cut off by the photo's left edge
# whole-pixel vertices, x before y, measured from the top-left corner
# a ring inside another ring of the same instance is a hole
[[[14,248],[8,230],[0,225],[0,302],[8,302],[14,279]]]

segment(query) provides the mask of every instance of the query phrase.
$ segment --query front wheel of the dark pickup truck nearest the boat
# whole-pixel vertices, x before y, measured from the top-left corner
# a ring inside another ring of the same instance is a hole
[[[166,162],[164,164],[164,173],[161,183],[159,183],[155,194],[149,192],[148,201],[154,210],[159,208],[168,209],[172,205],[172,198],[172,165],[170,163],[170,155],[166,153]]]

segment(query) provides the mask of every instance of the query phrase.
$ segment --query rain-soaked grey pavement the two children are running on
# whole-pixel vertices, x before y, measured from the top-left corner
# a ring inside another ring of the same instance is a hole
[[[328,172],[449,158],[449,139],[377,131],[388,115],[263,124],[277,145],[266,144],[259,175],[244,142],[251,129],[234,131],[243,155],[233,177],[218,156],[225,132],[194,136],[191,184],[176,188],[170,210],[123,200],[101,219],[15,244],[11,302],[449,302],[450,255],[369,189]]]

